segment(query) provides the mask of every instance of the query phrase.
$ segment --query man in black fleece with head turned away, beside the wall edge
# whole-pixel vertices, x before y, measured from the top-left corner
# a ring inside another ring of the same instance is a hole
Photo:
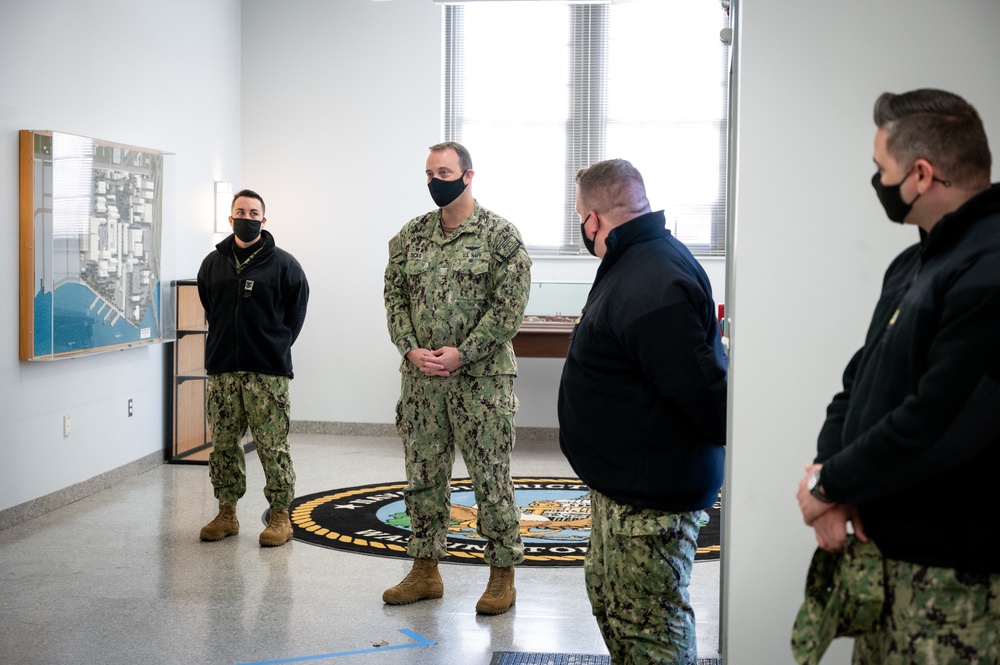
[[[629,162],[577,175],[601,258],[559,386],[559,440],[590,487],[587,593],[614,663],[697,661],[688,585],[722,486],[726,359],[712,288]]]

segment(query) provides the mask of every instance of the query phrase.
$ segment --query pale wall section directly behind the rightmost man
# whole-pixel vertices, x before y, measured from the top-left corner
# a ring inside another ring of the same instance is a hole
[[[979,109],[996,155],[1000,4],[741,0],[737,9],[723,659],[770,665],[793,662],[789,635],[814,549],[796,484],[882,273],[917,239],[886,220],[869,183],[873,103],[887,90],[957,92]],[[848,662],[849,646],[839,640],[824,662]]]

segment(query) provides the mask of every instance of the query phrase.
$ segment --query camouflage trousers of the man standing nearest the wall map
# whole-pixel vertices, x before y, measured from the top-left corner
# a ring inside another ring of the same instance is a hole
[[[288,452],[288,377],[230,372],[208,377],[208,422],[212,454],[208,475],[220,505],[235,506],[247,490],[241,439],[253,433],[264,467],[264,496],[271,508],[287,508],[295,496],[295,471]]]

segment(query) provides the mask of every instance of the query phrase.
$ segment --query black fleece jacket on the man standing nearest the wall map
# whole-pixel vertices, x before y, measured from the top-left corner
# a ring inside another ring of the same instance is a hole
[[[292,343],[302,330],[309,283],[302,266],[261,231],[263,246],[237,269],[235,236],[229,235],[202,261],[198,295],[208,317],[208,374],[292,374]]]

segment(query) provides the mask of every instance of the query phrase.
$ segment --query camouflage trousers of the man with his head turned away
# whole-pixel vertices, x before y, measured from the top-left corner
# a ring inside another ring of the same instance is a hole
[[[587,595],[614,665],[698,662],[688,586],[704,511],[665,513],[590,491]]]

